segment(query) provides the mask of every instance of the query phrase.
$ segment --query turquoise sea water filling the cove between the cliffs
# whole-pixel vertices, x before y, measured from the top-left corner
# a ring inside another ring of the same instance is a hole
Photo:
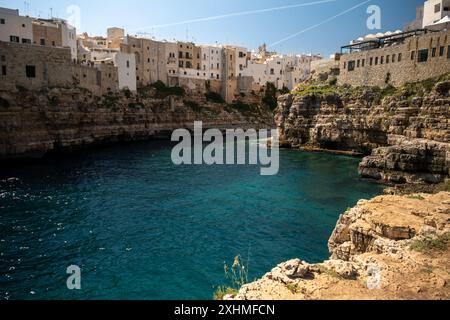
[[[263,177],[256,166],[176,167],[171,146],[3,165],[0,299],[210,299],[238,254],[251,279],[326,259],[339,214],[382,188],[351,157],[281,151],[279,174]],[[66,287],[72,264],[80,291]]]

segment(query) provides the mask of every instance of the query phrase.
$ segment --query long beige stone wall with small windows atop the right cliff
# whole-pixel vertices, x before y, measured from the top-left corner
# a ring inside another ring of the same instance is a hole
[[[338,84],[401,86],[450,72],[450,31],[432,32],[390,47],[345,54],[340,61]],[[428,50],[419,62],[421,50]],[[351,66],[353,71],[349,71]]]

